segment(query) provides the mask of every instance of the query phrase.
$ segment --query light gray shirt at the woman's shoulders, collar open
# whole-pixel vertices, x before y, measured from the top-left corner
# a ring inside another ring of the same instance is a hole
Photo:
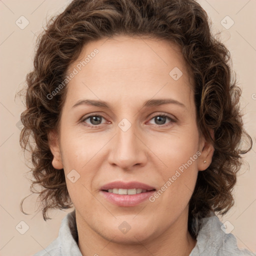
[[[221,225],[216,215],[203,218],[202,226],[196,237],[196,245],[189,256],[256,256],[248,250],[239,249],[235,236],[225,233]],[[82,256],[77,240],[75,210],[73,210],[62,219],[58,237],[33,256]]]

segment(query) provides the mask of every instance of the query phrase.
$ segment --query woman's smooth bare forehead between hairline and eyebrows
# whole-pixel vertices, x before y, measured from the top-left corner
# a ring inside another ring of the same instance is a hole
[[[167,40],[117,36],[91,41],[67,73],[74,69],[67,86],[73,101],[82,95],[136,100],[155,94],[190,100],[191,77],[185,61],[178,46]]]

